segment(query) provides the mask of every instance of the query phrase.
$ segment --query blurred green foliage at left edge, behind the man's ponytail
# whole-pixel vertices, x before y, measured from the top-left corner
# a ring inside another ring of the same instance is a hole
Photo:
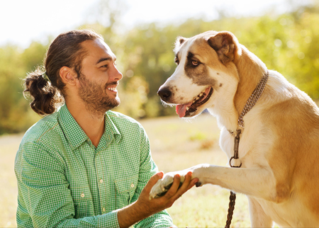
[[[41,63],[37,57],[43,58],[45,48],[38,47],[31,44],[23,52],[10,45],[0,48],[0,135],[21,132],[38,120],[28,108],[21,87],[21,78],[31,69],[30,64]]]

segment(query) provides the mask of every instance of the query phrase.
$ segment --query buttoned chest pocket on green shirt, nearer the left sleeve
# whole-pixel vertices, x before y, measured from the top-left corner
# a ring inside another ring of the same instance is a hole
[[[89,186],[71,186],[70,190],[74,203],[74,218],[94,216],[94,205]]]

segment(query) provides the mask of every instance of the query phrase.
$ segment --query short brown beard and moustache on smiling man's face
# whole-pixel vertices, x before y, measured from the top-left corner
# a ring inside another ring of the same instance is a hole
[[[117,95],[113,98],[106,93],[106,88],[116,85],[116,81],[103,86],[102,84],[89,81],[82,74],[79,78],[79,84],[81,85],[79,97],[84,101],[86,110],[89,110],[92,114],[104,115],[107,110],[115,108],[121,103]]]

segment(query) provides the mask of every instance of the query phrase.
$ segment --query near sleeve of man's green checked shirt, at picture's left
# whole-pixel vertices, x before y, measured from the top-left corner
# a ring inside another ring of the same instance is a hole
[[[15,164],[19,227],[119,227],[117,212],[74,219],[63,161],[43,145],[27,142]]]

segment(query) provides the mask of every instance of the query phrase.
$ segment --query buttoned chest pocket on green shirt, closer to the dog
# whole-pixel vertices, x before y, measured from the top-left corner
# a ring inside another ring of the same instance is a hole
[[[138,175],[129,178],[118,178],[115,181],[116,186],[116,209],[129,205],[135,193],[138,184]]]

